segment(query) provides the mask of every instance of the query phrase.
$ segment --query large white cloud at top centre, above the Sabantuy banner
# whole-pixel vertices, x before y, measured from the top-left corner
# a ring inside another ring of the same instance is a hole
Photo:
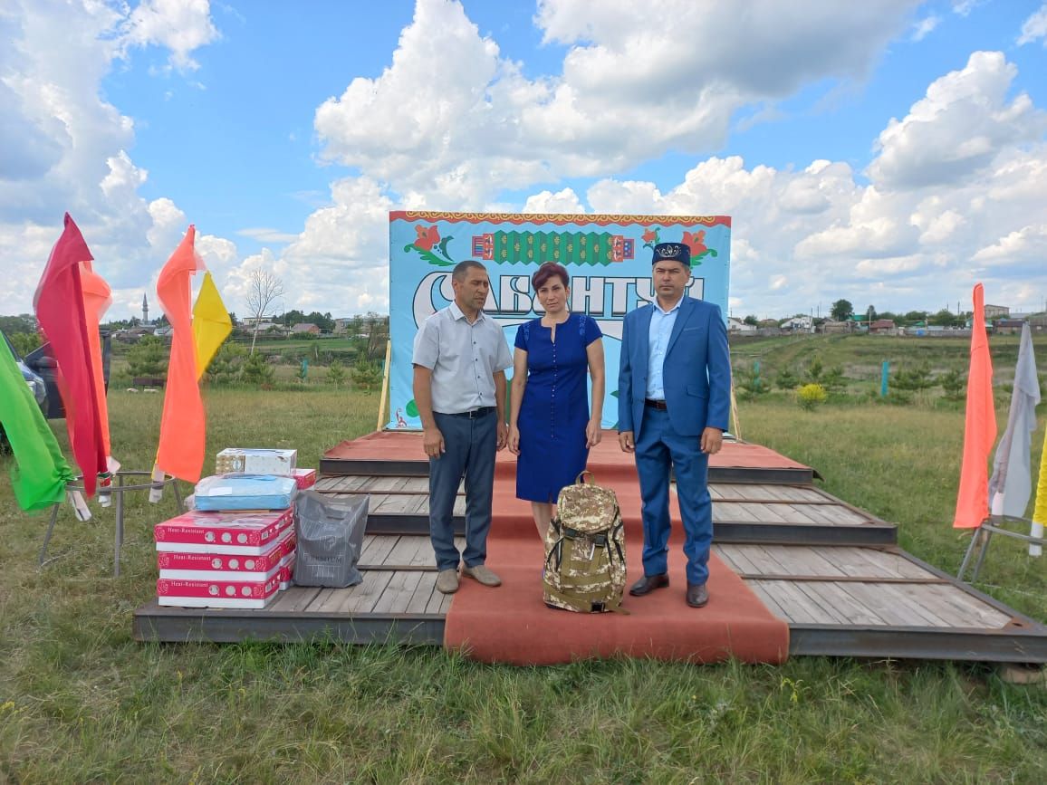
[[[314,126],[326,159],[411,206],[474,206],[502,188],[718,147],[748,104],[863,78],[917,4],[608,0],[597,15],[582,0],[542,0],[536,24],[569,49],[560,74],[531,80],[459,2],[419,0],[392,64],[326,100]],[[672,121],[641,131],[643,117]]]

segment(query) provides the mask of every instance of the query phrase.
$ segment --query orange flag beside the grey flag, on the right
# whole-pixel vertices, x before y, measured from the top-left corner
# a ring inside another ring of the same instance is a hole
[[[988,456],[996,443],[993,358],[985,333],[985,292],[975,285],[975,318],[971,332],[967,417],[963,431],[963,466],[956,497],[956,529],[977,529],[988,517]]]

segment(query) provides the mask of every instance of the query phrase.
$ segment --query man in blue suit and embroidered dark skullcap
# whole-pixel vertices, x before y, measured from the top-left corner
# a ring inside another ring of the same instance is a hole
[[[669,477],[675,472],[687,604],[700,608],[709,602],[713,541],[709,456],[719,452],[727,430],[731,356],[719,308],[685,295],[690,248],[660,243],[652,265],[656,298],[625,317],[618,378],[618,443],[636,453],[644,502],[644,577],[629,593],[669,585]]]

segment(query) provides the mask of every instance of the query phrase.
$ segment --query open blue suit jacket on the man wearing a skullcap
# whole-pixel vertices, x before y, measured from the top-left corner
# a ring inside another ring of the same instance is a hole
[[[647,391],[647,360],[654,306],[625,316],[618,374],[618,430],[640,436]],[[718,306],[684,295],[662,367],[669,421],[677,433],[697,436],[706,427],[727,430],[731,408],[731,356]]]

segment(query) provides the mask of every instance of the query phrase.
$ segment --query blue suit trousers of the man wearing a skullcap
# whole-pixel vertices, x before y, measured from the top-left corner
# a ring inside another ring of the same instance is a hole
[[[669,413],[644,408],[637,440],[637,473],[644,501],[644,575],[668,569],[669,475],[676,474],[680,517],[684,520],[687,582],[709,580],[709,551],[713,543],[713,502],[709,495],[709,456],[700,436],[682,436]]]

